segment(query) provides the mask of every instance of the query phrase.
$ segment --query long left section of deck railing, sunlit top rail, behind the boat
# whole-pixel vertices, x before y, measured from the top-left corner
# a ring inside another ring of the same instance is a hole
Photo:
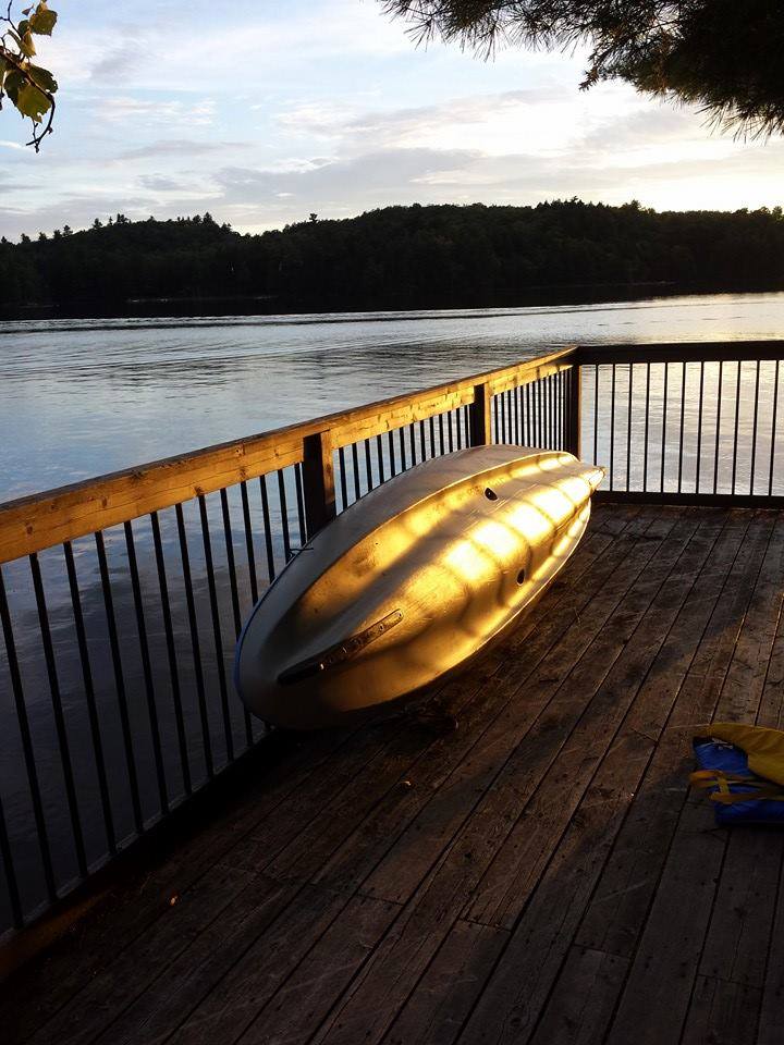
[[[429,457],[571,445],[575,378],[564,349],[0,506],[0,934],[265,736],[234,643],[309,534]]]

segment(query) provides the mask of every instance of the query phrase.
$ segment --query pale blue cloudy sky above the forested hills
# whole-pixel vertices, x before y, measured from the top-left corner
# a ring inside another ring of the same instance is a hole
[[[56,134],[36,156],[0,113],[9,238],[118,212],[260,232],[390,204],[784,201],[782,139],[735,140],[621,83],[580,91],[579,53],[417,47],[377,0],[50,7]]]

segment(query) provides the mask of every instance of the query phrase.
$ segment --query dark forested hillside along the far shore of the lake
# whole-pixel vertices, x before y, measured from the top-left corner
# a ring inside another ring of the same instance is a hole
[[[414,205],[340,221],[313,216],[261,235],[241,235],[209,214],[137,222],[119,214],[85,232],[66,226],[0,243],[4,306],[270,295],[286,307],[405,307],[644,282],[703,290],[784,283],[781,208]]]

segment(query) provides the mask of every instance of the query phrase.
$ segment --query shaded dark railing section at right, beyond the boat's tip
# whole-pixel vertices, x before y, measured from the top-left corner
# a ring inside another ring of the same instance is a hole
[[[784,495],[784,342],[580,348],[584,454],[600,497],[773,504]]]

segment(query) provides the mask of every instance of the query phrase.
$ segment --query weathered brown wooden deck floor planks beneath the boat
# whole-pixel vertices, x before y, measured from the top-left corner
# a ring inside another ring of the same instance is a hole
[[[10,982],[4,1040],[781,1042],[784,834],[687,778],[711,716],[782,724],[783,594],[784,513],[600,505],[456,729],[284,746]]]

